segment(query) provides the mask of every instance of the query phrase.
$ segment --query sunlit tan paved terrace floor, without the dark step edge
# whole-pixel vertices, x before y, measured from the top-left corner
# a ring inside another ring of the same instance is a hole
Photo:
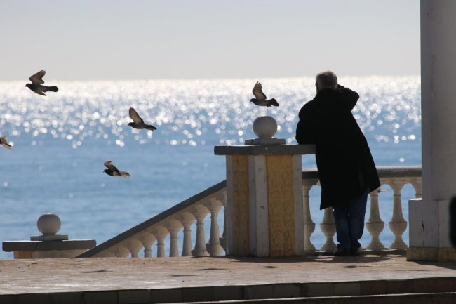
[[[456,277],[403,256],[0,260],[0,294]]]

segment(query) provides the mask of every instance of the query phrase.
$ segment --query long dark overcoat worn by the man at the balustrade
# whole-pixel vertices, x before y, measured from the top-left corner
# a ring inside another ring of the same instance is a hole
[[[300,110],[296,140],[316,145],[320,209],[343,206],[366,189],[380,187],[368,142],[351,114],[358,98],[358,93],[343,86],[326,88]]]

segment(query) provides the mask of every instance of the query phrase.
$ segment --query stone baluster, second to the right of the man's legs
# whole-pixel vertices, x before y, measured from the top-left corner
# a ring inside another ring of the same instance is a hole
[[[403,180],[391,180],[389,185],[393,188],[393,216],[389,221],[389,229],[394,233],[394,242],[391,249],[407,249],[407,244],[403,242],[402,234],[407,229],[407,222],[402,214],[401,189],[405,182]]]

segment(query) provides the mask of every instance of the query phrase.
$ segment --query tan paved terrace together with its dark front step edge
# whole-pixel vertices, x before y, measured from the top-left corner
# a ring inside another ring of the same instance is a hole
[[[441,303],[436,301],[448,300],[444,293],[456,293],[454,263],[407,262],[403,256],[26,259],[0,260],[0,270],[0,304],[326,298],[338,304],[344,297],[353,303],[370,297],[375,303],[375,297],[386,295],[392,303],[420,304],[418,298],[427,299],[421,303]],[[423,293],[428,295],[420,296]],[[411,295],[395,300],[394,295],[403,294]]]

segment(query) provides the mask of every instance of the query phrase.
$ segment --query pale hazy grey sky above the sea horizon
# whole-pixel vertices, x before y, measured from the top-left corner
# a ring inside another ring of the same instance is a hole
[[[0,0],[0,81],[420,74],[418,0]]]

